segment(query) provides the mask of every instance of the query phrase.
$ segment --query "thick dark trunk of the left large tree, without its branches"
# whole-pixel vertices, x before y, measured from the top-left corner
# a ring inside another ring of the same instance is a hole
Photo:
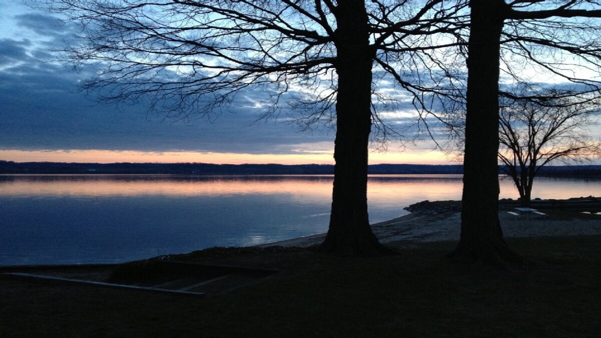
[[[334,14],[338,25],[334,191],[328,235],[320,250],[345,256],[389,253],[371,232],[367,214],[373,51],[364,1],[341,1]]]

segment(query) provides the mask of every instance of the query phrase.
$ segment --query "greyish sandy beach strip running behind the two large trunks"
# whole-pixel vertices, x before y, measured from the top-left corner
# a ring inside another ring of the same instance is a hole
[[[516,217],[506,211],[499,212],[505,237],[601,235],[601,215],[577,212],[549,213],[545,217]],[[374,235],[382,243],[459,241],[460,212],[412,212],[393,220],[372,224]],[[325,234],[264,244],[282,247],[308,247],[320,244]]]

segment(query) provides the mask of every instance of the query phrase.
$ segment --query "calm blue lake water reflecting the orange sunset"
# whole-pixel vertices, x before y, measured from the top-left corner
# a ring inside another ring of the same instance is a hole
[[[547,179],[533,197],[599,195]],[[501,198],[516,198],[501,180]],[[459,200],[461,176],[370,176],[372,223],[422,200]],[[111,263],[326,232],[331,176],[0,176],[0,265]]]

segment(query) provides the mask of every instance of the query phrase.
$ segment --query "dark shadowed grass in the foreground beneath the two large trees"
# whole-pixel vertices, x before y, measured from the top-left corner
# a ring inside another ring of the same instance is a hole
[[[455,243],[398,242],[400,256],[368,259],[195,253],[284,269],[204,300],[2,280],[0,337],[598,337],[601,236],[507,242],[531,268],[451,263]]]

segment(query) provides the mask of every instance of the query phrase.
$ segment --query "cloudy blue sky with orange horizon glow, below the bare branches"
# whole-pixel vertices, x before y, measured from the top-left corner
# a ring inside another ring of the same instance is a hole
[[[147,105],[98,103],[79,91],[85,70],[49,62],[73,29],[55,14],[0,0],[0,159],[52,162],[333,164],[331,129],[299,131],[284,118],[257,121],[241,103],[206,120],[165,119]],[[448,164],[424,142],[389,144],[370,164]]]

